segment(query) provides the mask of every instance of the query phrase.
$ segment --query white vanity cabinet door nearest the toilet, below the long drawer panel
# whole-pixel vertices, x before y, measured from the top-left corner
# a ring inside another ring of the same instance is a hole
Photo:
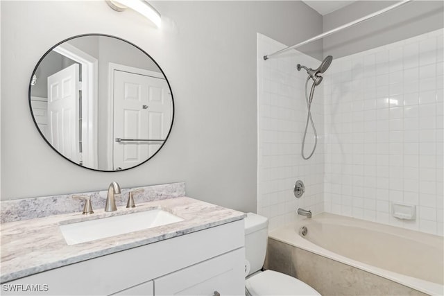
[[[244,247],[154,280],[155,295],[244,295]]]

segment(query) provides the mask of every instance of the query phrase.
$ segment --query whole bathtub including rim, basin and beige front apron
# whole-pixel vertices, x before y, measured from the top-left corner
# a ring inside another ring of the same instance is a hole
[[[323,213],[268,238],[266,268],[323,295],[444,295],[441,236]]]

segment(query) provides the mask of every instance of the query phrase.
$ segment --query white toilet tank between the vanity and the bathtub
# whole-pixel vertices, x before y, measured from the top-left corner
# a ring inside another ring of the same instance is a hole
[[[248,213],[245,222],[245,256],[250,264],[251,275],[264,265],[268,238],[268,219]]]

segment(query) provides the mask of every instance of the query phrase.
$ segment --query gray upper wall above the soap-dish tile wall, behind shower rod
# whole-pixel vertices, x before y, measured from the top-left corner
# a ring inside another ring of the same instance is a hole
[[[329,31],[398,1],[357,1],[324,15]],[[444,27],[444,1],[413,1],[323,39],[324,55],[341,58]]]

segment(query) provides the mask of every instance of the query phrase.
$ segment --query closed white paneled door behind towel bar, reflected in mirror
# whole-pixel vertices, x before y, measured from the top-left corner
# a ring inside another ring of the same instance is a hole
[[[114,170],[144,162],[162,141],[115,141],[115,138],[165,139],[172,116],[171,94],[164,78],[114,70]]]

